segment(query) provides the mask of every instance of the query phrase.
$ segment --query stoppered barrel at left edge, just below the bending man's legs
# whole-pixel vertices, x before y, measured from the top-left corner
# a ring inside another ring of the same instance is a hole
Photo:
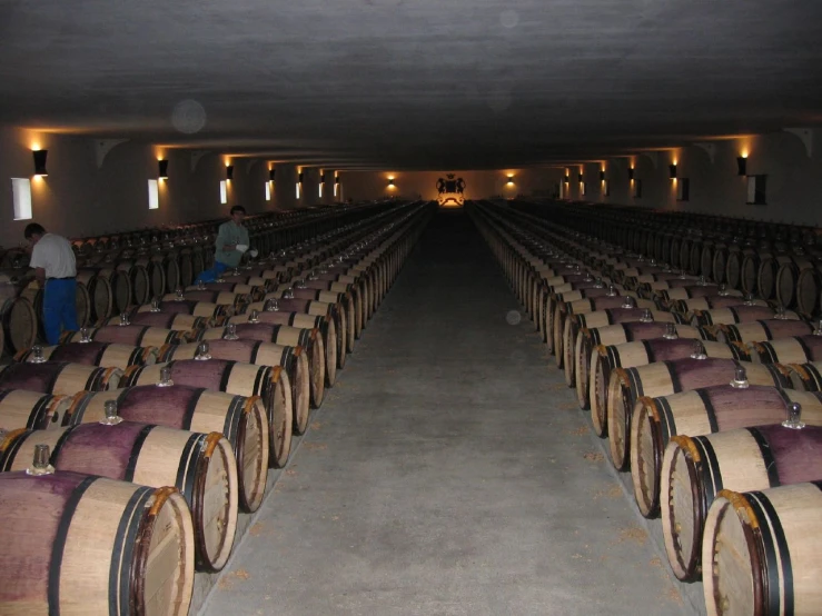
[[[83,390],[116,389],[122,374],[119,368],[99,368],[68,361],[9,364],[0,366],[0,388],[73,396]]]

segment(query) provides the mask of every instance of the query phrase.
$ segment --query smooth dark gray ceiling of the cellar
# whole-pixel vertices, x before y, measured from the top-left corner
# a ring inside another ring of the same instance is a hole
[[[820,0],[0,0],[0,122],[517,168],[822,125]]]

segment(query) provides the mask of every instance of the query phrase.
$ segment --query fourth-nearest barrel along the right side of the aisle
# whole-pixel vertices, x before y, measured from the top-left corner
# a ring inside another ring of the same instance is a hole
[[[627,469],[631,447],[631,417],[642,397],[670,396],[689,389],[724,385],[744,368],[751,385],[780,388],[791,386],[790,372],[780,364],[740,362],[735,359],[675,359],[636,368],[615,368],[611,372],[607,397],[607,426],[611,459]]]

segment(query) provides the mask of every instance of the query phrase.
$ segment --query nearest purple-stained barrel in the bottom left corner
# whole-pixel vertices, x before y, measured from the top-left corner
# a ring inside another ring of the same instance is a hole
[[[0,493],[7,614],[188,614],[194,527],[175,488],[3,473]]]

